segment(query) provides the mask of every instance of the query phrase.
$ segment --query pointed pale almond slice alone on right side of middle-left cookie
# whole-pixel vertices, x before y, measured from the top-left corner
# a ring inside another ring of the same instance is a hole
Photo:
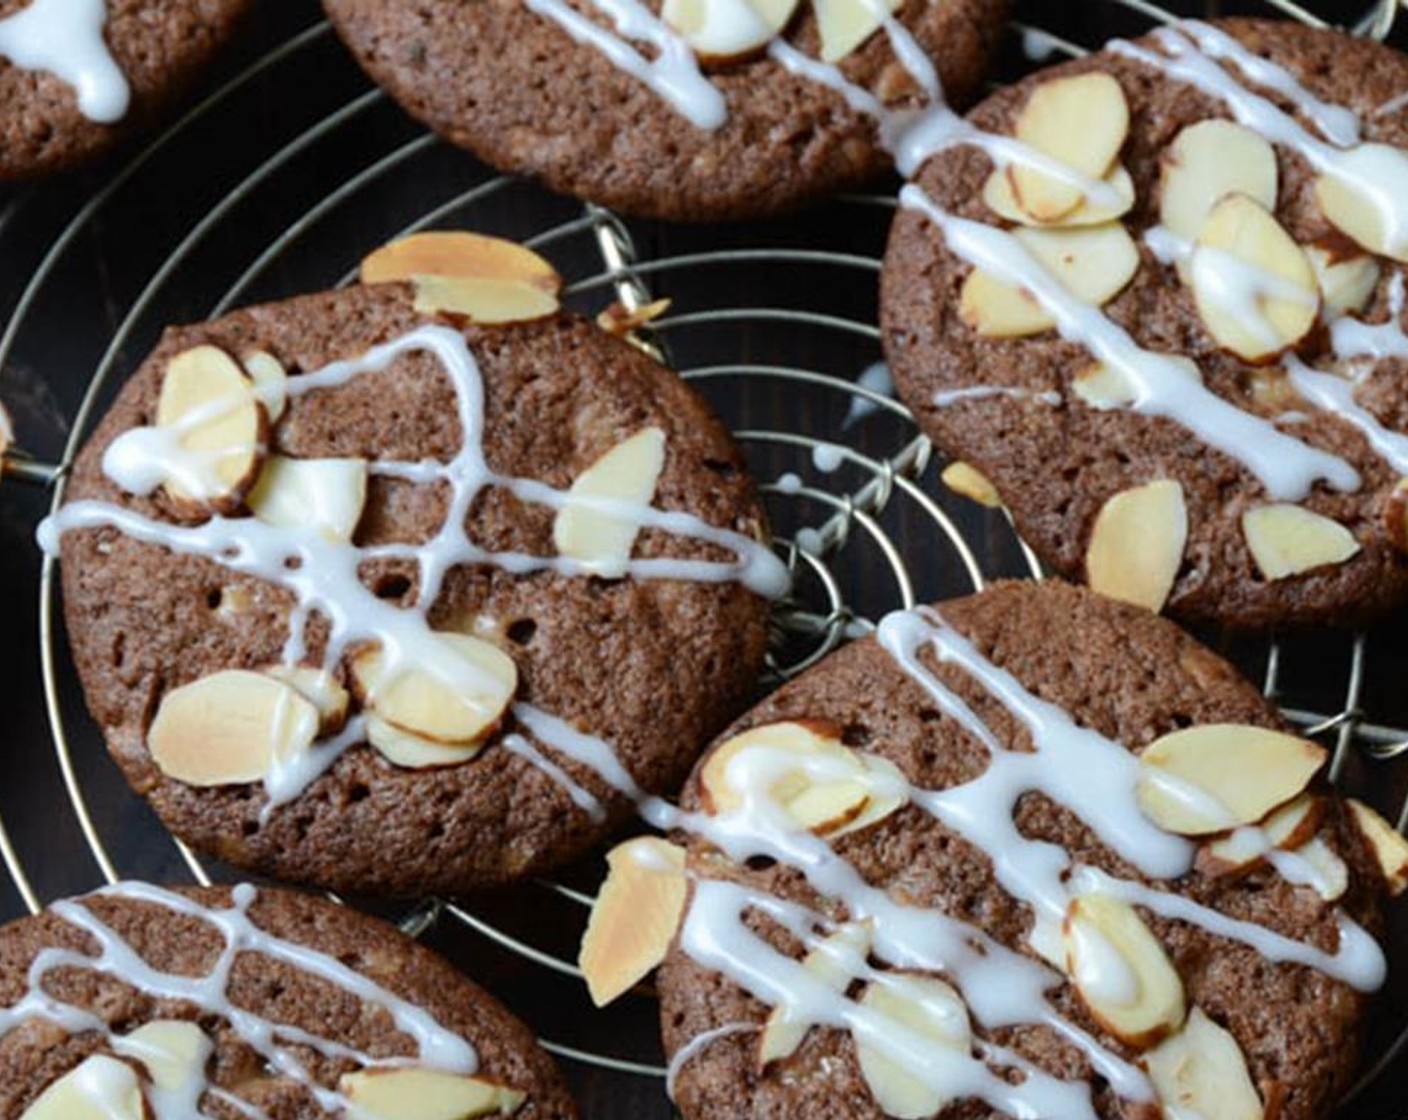
[[[552,523],[558,552],[580,561],[604,579],[620,579],[629,571],[641,523],[636,517],[591,509],[582,497],[610,499],[646,507],[665,469],[665,433],[642,428],[583,471],[567,490],[566,504]]]

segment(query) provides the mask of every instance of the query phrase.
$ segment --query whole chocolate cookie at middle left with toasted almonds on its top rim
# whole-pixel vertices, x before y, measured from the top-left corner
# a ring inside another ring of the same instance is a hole
[[[541,258],[418,235],[363,280],[169,331],[42,537],[89,707],[177,835],[456,893],[600,841],[629,810],[603,758],[677,785],[787,572],[707,406]]]

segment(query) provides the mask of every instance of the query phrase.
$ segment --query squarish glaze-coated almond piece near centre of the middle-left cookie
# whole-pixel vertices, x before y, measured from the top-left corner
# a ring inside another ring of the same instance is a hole
[[[351,541],[366,504],[365,459],[290,459],[270,455],[249,492],[255,517],[276,528],[307,528]]]

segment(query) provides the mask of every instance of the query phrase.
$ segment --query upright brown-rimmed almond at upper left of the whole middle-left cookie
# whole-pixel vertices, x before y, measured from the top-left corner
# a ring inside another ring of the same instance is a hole
[[[218,347],[166,363],[156,427],[170,433],[163,489],[187,511],[234,513],[263,462],[269,417],[253,382]]]

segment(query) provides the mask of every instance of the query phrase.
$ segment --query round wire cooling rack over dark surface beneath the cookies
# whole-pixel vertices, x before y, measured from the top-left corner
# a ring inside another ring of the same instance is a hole
[[[66,463],[168,323],[351,279],[366,249],[429,227],[513,237],[596,311],[670,296],[652,344],[743,444],[796,573],[774,614],[769,679],[814,664],[886,610],[962,595],[1039,565],[1007,521],[948,496],[942,466],[886,387],[874,289],[893,190],[791,221],[707,230],[625,223],[496,176],[410,123],[344,56],[307,0],[266,11],[206,100],[104,178],[0,194],[0,397],[21,451],[4,461],[0,587],[0,917],[115,878],[231,878],[175,844],[128,792],[87,720],[52,565],[32,542]],[[1184,4],[1177,14],[1277,10],[1385,39],[1397,4]],[[998,76],[1139,34],[1146,0],[1018,4]],[[31,485],[24,485],[31,483]],[[1408,819],[1408,642],[1376,634],[1231,642],[1332,776]],[[466,903],[386,910],[503,996],[562,1059],[587,1117],[670,1116],[656,1007],[642,990],[590,1009],[572,964],[600,859]],[[1402,933],[1398,957],[1408,954]],[[1408,983],[1383,1000],[1356,1116],[1404,1120]]]

